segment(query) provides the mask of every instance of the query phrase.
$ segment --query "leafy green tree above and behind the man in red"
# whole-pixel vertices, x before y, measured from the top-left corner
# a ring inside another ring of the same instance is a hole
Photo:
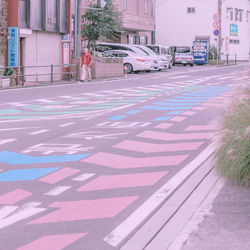
[[[97,41],[114,41],[121,32],[121,13],[112,0],[106,0],[101,8],[101,1],[92,1],[91,9],[82,18],[82,37],[88,41],[88,47],[94,48]]]

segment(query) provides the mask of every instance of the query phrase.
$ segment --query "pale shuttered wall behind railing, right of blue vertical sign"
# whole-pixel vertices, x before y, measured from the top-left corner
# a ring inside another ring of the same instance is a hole
[[[37,66],[28,68],[26,74],[48,74],[50,67],[39,68],[38,66],[49,66],[51,64],[62,64],[62,36],[56,33],[33,31],[32,35],[25,38],[25,66]],[[61,68],[55,68],[55,73],[60,73]],[[61,75],[55,75],[54,79],[60,79]],[[50,76],[27,77],[27,81],[48,81]]]

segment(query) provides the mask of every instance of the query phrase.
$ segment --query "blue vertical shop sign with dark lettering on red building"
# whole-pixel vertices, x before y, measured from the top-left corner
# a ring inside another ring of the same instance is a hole
[[[9,27],[9,40],[8,40],[8,67],[18,66],[18,28]]]

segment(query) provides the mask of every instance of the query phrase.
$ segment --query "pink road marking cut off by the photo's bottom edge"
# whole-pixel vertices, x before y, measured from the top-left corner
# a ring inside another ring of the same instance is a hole
[[[47,235],[17,250],[62,250],[85,235],[86,233]]]

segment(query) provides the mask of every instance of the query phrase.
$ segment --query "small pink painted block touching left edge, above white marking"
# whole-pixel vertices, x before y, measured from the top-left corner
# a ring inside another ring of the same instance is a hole
[[[13,190],[7,194],[0,196],[0,204],[13,205],[21,200],[30,197],[32,193],[22,189]]]

